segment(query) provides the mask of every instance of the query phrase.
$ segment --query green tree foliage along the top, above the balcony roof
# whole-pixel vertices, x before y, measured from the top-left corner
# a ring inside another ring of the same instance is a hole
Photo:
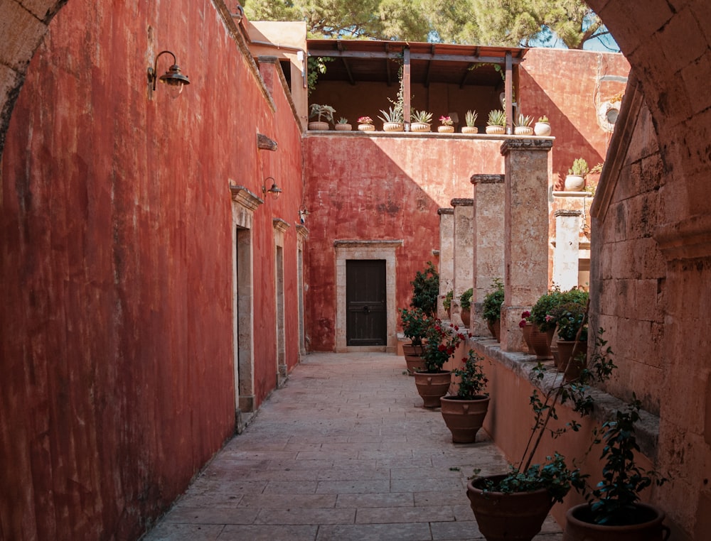
[[[245,0],[253,21],[306,21],[311,38],[580,49],[607,33],[583,0]]]

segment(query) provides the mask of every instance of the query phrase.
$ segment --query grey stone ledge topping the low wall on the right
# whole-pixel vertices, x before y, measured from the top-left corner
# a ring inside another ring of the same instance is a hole
[[[543,365],[548,368],[545,378],[542,380],[533,378],[533,368],[538,362],[535,360],[535,356],[513,351],[501,351],[501,344],[493,338],[474,337],[467,341],[467,346],[486,359],[498,362],[508,368],[516,376],[525,379],[540,390],[549,390],[555,381],[562,378],[562,374],[555,371],[553,361],[543,361]],[[617,410],[626,408],[626,403],[623,400],[604,393],[602,390],[592,389],[590,395],[595,402],[591,417],[601,424],[614,417]],[[659,439],[659,417],[645,410],[641,410],[639,416],[640,421],[636,428],[637,443],[641,452],[651,461],[655,461]]]

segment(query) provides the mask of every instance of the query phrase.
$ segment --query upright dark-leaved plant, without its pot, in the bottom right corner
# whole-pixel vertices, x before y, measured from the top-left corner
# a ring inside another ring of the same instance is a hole
[[[636,395],[626,410],[617,410],[614,419],[605,422],[594,432],[594,444],[604,443],[602,481],[585,493],[592,520],[600,525],[630,525],[637,520],[635,504],[639,493],[652,483],[661,486],[667,479],[658,471],[642,471],[635,462],[639,452],[635,425],[639,421],[641,402]],[[601,437],[602,432],[602,437]]]

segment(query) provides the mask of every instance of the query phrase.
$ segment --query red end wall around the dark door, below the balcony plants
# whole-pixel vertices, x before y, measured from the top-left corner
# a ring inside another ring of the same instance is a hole
[[[503,173],[501,140],[433,136],[314,135],[304,141],[309,208],[307,322],[311,349],[335,346],[336,239],[402,239],[397,306],[427,261],[437,266],[437,209],[471,197],[471,175]]]

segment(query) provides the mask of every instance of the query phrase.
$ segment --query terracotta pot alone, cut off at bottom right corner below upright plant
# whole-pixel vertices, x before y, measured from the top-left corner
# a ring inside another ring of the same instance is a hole
[[[637,503],[638,524],[604,526],[593,524],[589,506],[582,503],[568,510],[563,541],[665,541],[670,530],[665,525],[664,512],[646,503]]]

